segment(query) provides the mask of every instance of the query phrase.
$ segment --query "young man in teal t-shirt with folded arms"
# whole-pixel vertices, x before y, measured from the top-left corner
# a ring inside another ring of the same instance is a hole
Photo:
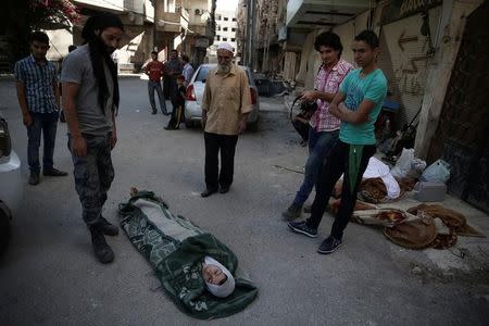
[[[387,79],[377,67],[378,37],[372,30],[360,33],[353,42],[360,68],[350,72],[329,105],[329,113],[341,120],[339,140],[319,172],[311,217],[289,222],[289,228],[315,238],[336,181],[343,176],[341,203],[331,234],[317,252],[331,253],[341,246],[343,230],[356,202],[356,192],[368,160],[376,152],[374,124],[387,93]],[[341,104],[340,104],[341,103]]]

